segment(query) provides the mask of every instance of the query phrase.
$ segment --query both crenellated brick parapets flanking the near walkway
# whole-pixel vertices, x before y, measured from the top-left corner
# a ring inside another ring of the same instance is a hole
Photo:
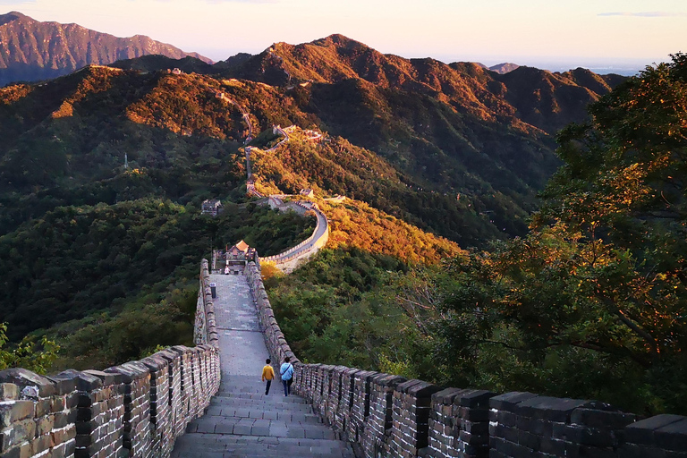
[[[259,267],[246,267],[267,349],[294,365],[293,392],[365,458],[687,458],[687,418],[640,420],[595,401],[441,389],[421,380],[302,364],[279,328]],[[0,371],[0,458],[167,458],[220,383],[208,263],[194,340],[105,371]]]

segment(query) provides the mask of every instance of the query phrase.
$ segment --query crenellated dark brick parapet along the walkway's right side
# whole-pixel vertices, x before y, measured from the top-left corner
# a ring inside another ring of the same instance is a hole
[[[295,358],[259,267],[247,276],[267,349],[295,361],[293,391],[359,457],[687,458],[687,417],[640,420],[605,403],[530,393],[445,388],[391,374]]]

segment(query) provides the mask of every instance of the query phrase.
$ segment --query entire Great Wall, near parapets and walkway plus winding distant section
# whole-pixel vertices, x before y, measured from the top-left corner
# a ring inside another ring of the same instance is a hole
[[[259,261],[300,261],[326,244],[327,217],[312,202],[294,205],[314,211],[318,227]],[[687,417],[301,363],[260,262],[239,276],[201,262],[194,339],[105,370],[0,371],[0,458],[687,458]],[[284,397],[278,380],[262,393],[267,357],[276,368],[292,360],[296,395]]]

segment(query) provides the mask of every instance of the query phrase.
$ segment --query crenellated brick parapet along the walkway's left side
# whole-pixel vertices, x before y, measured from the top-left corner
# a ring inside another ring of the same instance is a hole
[[[200,273],[196,329],[203,342],[143,360],[42,377],[0,371],[0,458],[165,458],[219,389],[219,352],[208,285]],[[198,320],[202,320],[202,325]]]

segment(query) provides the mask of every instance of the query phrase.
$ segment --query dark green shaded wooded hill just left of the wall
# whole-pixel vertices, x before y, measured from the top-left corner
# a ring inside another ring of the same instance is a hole
[[[190,344],[199,259],[212,246],[243,239],[268,256],[315,225],[254,204],[225,210],[211,218],[153,198],[59,207],[0,237],[8,336],[47,332],[80,368]]]

